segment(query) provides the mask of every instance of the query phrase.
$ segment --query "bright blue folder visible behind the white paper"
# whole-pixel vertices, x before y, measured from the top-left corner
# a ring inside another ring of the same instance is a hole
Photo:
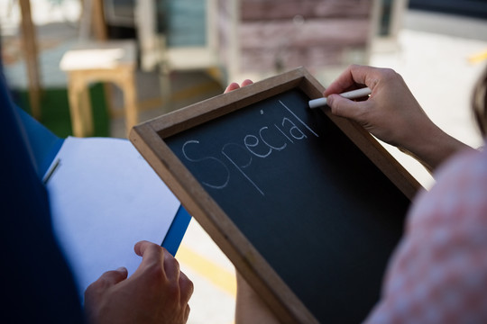
[[[40,178],[47,172],[51,162],[58,154],[64,139],[54,135],[51,130],[45,128],[39,121],[36,121],[27,112],[17,109],[23,122],[26,136],[30,143],[32,157],[37,166],[37,174]],[[176,212],[176,216],[170,225],[170,229],[163,239],[161,246],[165,247],[171,255],[175,256],[178,251],[182,238],[188,229],[189,216],[188,211],[181,205]]]

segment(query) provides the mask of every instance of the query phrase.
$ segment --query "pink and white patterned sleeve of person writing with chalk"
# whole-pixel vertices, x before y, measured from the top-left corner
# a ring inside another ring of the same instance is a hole
[[[487,151],[421,193],[367,323],[487,323]]]

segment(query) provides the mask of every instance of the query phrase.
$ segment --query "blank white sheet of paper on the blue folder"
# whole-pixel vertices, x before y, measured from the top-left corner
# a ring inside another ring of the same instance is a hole
[[[126,139],[69,137],[56,161],[46,184],[53,229],[83,296],[106,271],[132,275],[142,260],[133,245],[161,244],[179,201]]]

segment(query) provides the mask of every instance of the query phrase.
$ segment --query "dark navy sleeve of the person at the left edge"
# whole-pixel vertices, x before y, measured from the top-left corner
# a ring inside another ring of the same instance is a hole
[[[51,227],[48,195],[0,70],[2,323],[82,323],[69,266]]]

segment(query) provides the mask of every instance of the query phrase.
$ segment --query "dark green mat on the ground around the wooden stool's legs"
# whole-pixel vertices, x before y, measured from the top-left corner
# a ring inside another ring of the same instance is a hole
[[[29,92],[13,89],[14,101],[23,110],[31,113]],[[89,88],[95,137],[110,136],[110,118],[106,107],[103,84],[97,83]],[[41,93],[41,123],[56,136],[65,139],[73,135],[71,118],[69,116],[68,92],[66,89],[42,89]]]

